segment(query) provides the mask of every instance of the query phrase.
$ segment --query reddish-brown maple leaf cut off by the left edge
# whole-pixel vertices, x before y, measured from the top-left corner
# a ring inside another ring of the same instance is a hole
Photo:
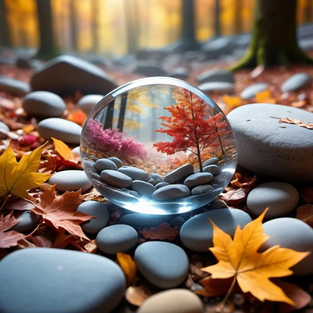
[[[26,236],[22,233],[18,233],[14,230],[9,230],[19,221],[13,216],[13,211],[7,216],[0,215],[0,248],[10,248],[18,245],[18,241],[24,239]]]

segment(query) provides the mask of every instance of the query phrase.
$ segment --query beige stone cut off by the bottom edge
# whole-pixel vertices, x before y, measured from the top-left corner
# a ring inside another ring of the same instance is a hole
[[[172,289],[158,292],[145,300],[137,313],[203,313],[203,303],[192,291]]]

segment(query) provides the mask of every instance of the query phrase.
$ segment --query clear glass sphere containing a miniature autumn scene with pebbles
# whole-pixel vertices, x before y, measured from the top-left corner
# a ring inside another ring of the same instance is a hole
[[[106,95],[85,122],[80,156],[105,198],[149,214],[211,202],[237,165],[222,110],[197,87],[168,77],[135,80]]]

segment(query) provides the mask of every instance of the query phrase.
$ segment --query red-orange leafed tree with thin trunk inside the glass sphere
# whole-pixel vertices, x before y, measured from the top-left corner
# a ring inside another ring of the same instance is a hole
[[[191,151],[198,156],[200,172],[202,172],[201,151],[208,146],[215,146],[215,139],[229,131],[218,132],[218,128],[226,127],[222,113],[213,117],[206,117],[207,106],[200,97],[190,91],[182,90],[185,98],[178,98],[175,105],[169,105],[164,110],[172,116],[161,116],[160,120],[166,122],[161,125],[168,129],[160,128],[156,132],[165,133],[174,137],[172,142],[157,142],[153,146],[157,151],[166,152],[168,155],[177,151]],[[222,150],[223,151],[223,150]]]

